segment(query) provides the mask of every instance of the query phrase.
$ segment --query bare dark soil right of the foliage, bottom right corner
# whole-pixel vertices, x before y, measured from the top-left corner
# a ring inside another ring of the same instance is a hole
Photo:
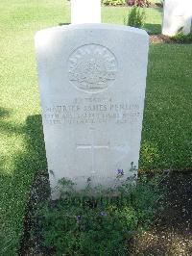
[[[169,175],[164,210],[154,225],[132,240],[130,255],[192,255],[192,172]]]

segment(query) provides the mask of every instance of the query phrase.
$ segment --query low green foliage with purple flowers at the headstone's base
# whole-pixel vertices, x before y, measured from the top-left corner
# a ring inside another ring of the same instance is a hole
[[[126,241],[155,216],[160,197],[156,181],[142,178],[136,187],[100,188],[92,196],[63,183],[60,200],[47,201],[37,213],[34,234],[53,255],[127,255]]]

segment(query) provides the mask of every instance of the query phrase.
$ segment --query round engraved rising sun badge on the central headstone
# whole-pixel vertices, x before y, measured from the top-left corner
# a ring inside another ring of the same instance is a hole
[[[76,49],[68,60],[70,82],[86,92],[107,90],[117,73],[117,61],[107,47],[86,44]]]

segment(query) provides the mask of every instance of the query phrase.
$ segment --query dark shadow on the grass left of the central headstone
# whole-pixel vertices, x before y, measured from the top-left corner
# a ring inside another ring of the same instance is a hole
[[[0,109],[1,116],[9,111]],[[0,119],[1,129],[6,134],[21,135],[25,141],[22,151],[11,155],[12,174],[0,175],[0,254],[16,255],[23,234],[23,217],[29,200],[33,180],[39,170],[46,169],[46,155],[40,115],[28,116],[25,125],[12,126]],[[13,141],[12,141],[13,143]],[[16,145],[12,144],[16,148]],[[0,161],[4,170],[5,161]],[[10,161],[10,160],[9,160]],[[15,253],[15,254],[14,254]]]

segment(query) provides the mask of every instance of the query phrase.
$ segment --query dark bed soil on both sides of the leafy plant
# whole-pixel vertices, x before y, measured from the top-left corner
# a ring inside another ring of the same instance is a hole
[[[168,172],[161,186],[166,188],[164,209],[148,231],[132,239],[128,255],[192,255],[192,172]],[[50,193],[46,171],[37,173],[32,188],[19,255],[52,255],[40,248],[37,234],[36,239],[30,235],[36,225],[36,208]]]

